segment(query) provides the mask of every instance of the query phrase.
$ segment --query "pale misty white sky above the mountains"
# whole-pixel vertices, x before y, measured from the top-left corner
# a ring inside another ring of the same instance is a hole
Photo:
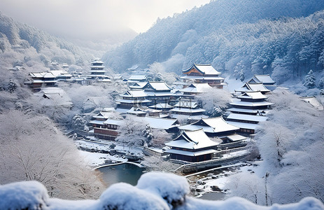
[[[69,38],[148,30],[157,18],[210,0],[1,0],[0,11],[19,22]]]

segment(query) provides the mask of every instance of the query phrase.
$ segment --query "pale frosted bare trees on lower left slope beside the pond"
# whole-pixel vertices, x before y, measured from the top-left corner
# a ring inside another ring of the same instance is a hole
[[[100,195],[103,186],[96,173],[86,167],[71,140],[48,118],[10,110],[1,113],[0,124],[1,184],[39,181],[51,197]]]

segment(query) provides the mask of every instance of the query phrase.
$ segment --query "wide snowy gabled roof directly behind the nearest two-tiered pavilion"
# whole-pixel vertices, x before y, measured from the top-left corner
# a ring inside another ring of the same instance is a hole
[[[179,127],[181,130],[197,130],[203,129],[204,132],[219,133],[239,130],[239,127],[228,124],[223,117],[218,118],[202,118],[201,120],[190,125]]]

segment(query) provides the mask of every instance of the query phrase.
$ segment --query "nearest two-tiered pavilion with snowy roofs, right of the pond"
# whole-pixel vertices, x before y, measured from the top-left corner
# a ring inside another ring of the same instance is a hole
[[[217,152],[218,144],[211,141],[202,129],[184,131],[179,137],[165,144],[171,148],[165,153],[169,153],[173,160],[201,162],[213,158],[213,153]]]

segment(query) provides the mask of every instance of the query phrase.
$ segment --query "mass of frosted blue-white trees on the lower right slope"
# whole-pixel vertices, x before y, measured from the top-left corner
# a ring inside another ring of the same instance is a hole
[[[309,196],[323,201],[323,111],[281,88],[269,95],[269,102],[274,103],[269,120],[260,123],[262,129],[255,135],[263,160],[262,173],[256,174],[261,179],[269,173],[268,202],[297,202]],[[251,176],[251,182],[255,180]],[[248,193],[244,189],[233,192]]]

